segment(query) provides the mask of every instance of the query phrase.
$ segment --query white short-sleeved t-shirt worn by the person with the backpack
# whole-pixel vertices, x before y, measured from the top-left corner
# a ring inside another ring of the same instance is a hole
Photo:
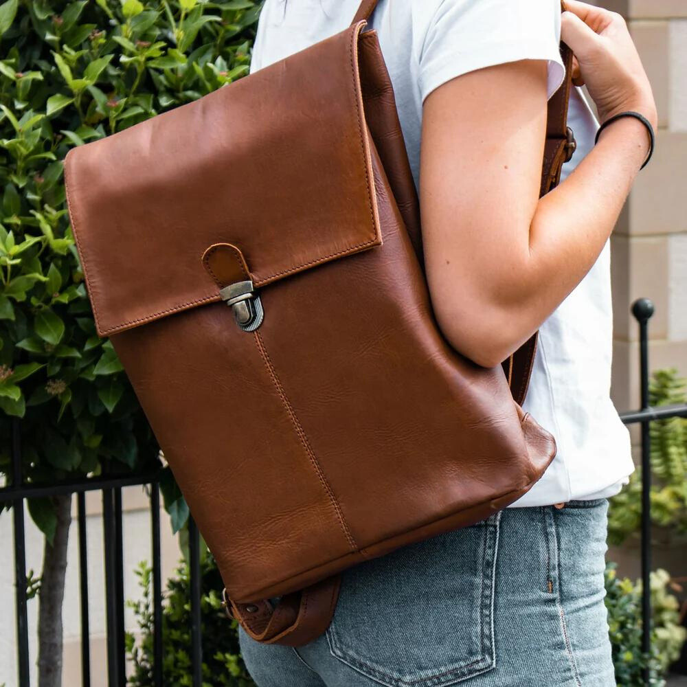
[[[359,0],[266,0],[251,71],[344,30],[358,5]],[[416,184],[423,102],[431,91],[473,69],[526,58],[548,60],[549,97],[559,87],[565,76],[560,8],[559,0],[379,0],[370,25],[394,85]],[[572,91],[568,124],[577,150],[563,166],[562,179],[592,148],[598,128],[581,90]],[[607,243],[539,330],[523,408],[555,436],[558,453],[514,506],[608,497],[633,471],[629,432],[609,395],[612,322]]]

